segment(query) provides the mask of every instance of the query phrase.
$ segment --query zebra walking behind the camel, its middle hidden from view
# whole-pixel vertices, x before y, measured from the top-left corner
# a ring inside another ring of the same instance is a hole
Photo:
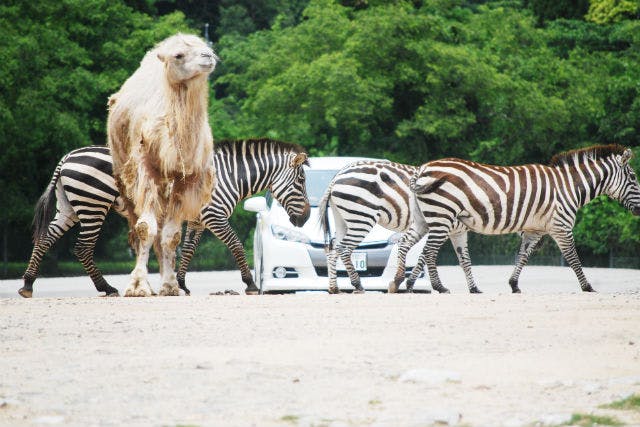
[[[187,294],[185,273],[204,228],[208,228],[232,251],[241,271],[247,294],[258,293],[247,265],[242,243],[229,225],[234,207],[242,199],[269,189],[289,215],[293,225],[302,226],[310,207],[303,165],[308,164],[302,147],[271,139],[225,140],[216,143],[213,161],[217,171],[211,202],[201,210],[199,221],[189,222],[185,233],[178,280]],[[114,210],[125,218],[128,213],[112,176],[112,159],[106,146],[89,146],[71,151],[58,163],[49,185],[40,197],[34,216],[34,248],[18,291],[25,298],[33,295],[42,257],[71,227],[80,223],[74,253],[98,292],[118,296],[95,265],[93,252],[107,213]],[[55,197],[53,197],[55,193]],[[56,214],[53,214],[54,201]],[[131,239],[131,236],[130,236]],[[156,253],[157,253],[157,246]]]

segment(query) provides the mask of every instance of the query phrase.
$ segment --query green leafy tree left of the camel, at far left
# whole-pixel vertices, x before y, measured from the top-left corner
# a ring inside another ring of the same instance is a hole
[[[5,257],[26,258],[39,194],[69,150],[104,144],[106,101],[181,13],[152,19],[122,2],[0,5],[0,224]],[[6,207],[11,207],[6,208]]]

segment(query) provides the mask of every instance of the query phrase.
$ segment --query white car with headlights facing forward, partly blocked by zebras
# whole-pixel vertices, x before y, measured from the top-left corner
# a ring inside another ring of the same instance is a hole
[[[253,239],[253,265],[256,286],[261,292],[291,292],[327,290],[327,258],[324,236],[320,229],[318,203],[327,186],[342,167],[359,160],[378,160],[363,157],[310,157],[305,167],[307,196],[311,213],[303,227],[294,227],[282,206],[269,193],[266,197],[247,199],[244,209],[257,212]],[[329,224],[333,216],[329,211]],[[353,252],[352,259],[365,290],[386,291],[395,275],[397,244],[400,233],[376,225]],[[426,238],[407,254],[407,275],[416,264]],[[352,291],[344,264],[338,260],[338,287]],[[421,274],[422,276],[422,274]],[[401,291],[404,285],[401,285]],[[416,292],[426,292],[427,284],[419,280]]]

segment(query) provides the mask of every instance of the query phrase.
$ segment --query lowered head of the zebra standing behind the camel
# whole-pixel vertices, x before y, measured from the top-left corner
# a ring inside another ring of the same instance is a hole
[[[284,207],[289,221],[302,227],[311,212],[303,165],[308,164],[307,153],[291,153],[289,163],[280,169],[271,182],[273,197]]]

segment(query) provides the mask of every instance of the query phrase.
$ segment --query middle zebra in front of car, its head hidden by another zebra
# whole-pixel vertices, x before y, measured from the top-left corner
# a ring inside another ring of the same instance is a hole
[[[361,160],[345,166],[333,178],[319,203],[330,293],[339,292],[338,256],[347,269],[354,292],[364,292],[351,253],[376,224],[403,233],[398,244],[398,268],[388,288],[389,292],[397,291],[405,277],[407,252],[427,232],[409,187],[416,171],[415,166],[388,160]],[[329,206],[335,220],[334,240],[329,230]]]

